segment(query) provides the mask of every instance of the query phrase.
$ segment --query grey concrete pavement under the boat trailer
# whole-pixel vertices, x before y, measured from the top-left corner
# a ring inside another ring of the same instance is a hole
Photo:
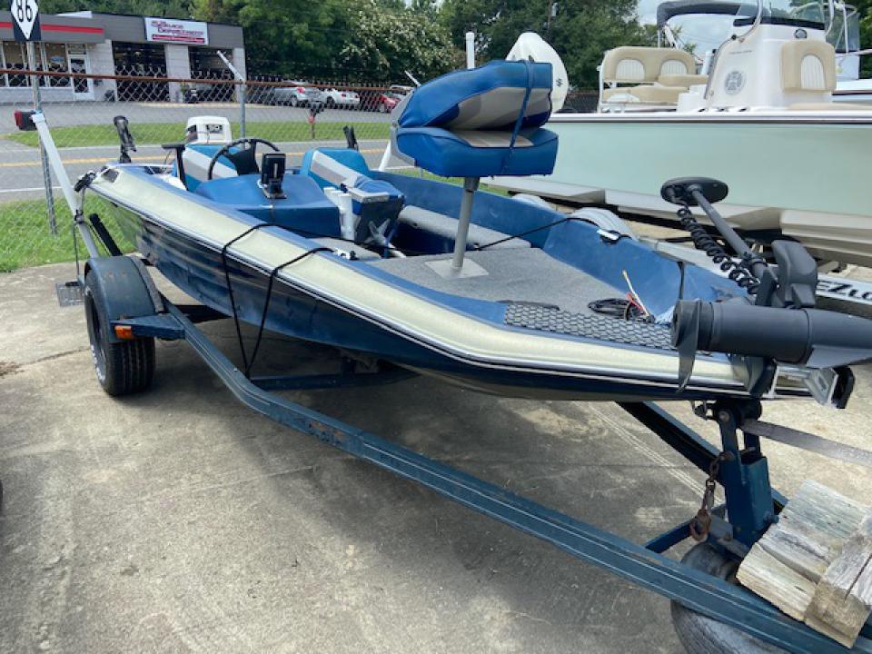
[[[0,274],[0,651],[680,651],[665,600],[257,416],[184,343],[158,344],[153,391],[104,395],[81,307],[54,300],[72,275]],[[328,354],[267,344],[267,370]],[[766,415],[872,447],[858,372],[847,411]],[[699,506],[702,475],[608,403],[427,379],[292,397],[633,540]],[[866,469],[765,447],[782,489],[872,502]]]

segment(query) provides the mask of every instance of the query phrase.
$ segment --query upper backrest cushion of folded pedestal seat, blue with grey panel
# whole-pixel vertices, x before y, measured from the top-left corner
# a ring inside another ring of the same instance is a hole
[[[442,75],[416,89],[400,127],[511,130],[530,86],[522,128],[539,127],[551,113],[551,64],[493,61]]]

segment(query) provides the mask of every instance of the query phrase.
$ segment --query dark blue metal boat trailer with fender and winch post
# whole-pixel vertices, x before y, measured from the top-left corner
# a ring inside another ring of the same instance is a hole
[[[91,279],[79,278],[86,308],[90,283],[91,287],[100,287],[97,300],[102,302],[101,310],[110,318],[111,329],[104,332],[103,337],[108,334],[109,340],[115,342],[124,339],[144,342],[154,338],[183,340],[239,401],[273,421],[420,483],[530,536],[547,540],[582,561],[609,570],[696,612],[699,619],[717,620],[789,652],[844,654],[847,651],[834,640],[788,618],[748,590],[664,555],[672,546],[695,536],[696,540],[708,542],[726,556],[740,559],[768,525],[778,520],[778,511],[786,500],[769,485],[767,461],[760,452],[759,439],[746,432],[744,446],[738,441],[743,421],[759,417],[758,402],[718,401],[706,408],[706,417],[718,422],[723,451],[718,451],[653,403],[619,403],[671,448],[708,472],[707,487],[711,489],[708,511],[704,500],[697,517],[639,545],[273,392],[388,383],[411,376],[411,372],[392,368],[386,372],[364,373],[347,367],[332,375],[248,378],[195,324],[227,316],[201,305],[176,306],[157,292],[144,264],[131,257],[92,258],[86,270],[93,275],[89,275]],[[94,302],[94,293],[91,294]],[[94,343],[93,340],[92,333]],[[723,487],[727,499],[725,505],[718,507],[712,505],[716,482]],[[706,521],[701,529],[700,519]],[[851,651],[872,654],[872,624],[867,623]]]

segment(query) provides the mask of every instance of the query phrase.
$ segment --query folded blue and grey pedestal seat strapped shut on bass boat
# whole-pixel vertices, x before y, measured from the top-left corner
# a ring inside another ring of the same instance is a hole
[[[550,174],[557,134],[551,65],[494,61],[422,85],[402,107],[395,143],[414,163],[446,177]]]

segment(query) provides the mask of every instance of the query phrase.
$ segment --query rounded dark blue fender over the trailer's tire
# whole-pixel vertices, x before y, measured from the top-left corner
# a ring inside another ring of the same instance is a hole
[[[163,312],[160,293],[138,259],[128,256],[89,259],[84,274],[90,275],[94,292],[99,294],[106,317],[111,321]],[[108,340],[120,342],[112,332]]]

